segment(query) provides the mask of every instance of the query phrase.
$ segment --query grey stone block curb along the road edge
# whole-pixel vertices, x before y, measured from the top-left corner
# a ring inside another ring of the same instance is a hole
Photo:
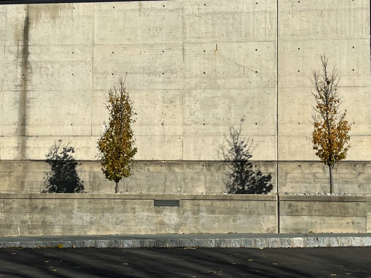
[[[2,241],[0,248],[304,248],[371,246],[371,237],[267,237],[267,238],[193,238],[193,239],[123,239],[75,241]]]

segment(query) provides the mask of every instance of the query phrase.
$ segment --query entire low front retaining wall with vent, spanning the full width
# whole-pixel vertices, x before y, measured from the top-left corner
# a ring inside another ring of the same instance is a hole
[[[177,199],[180,206],[154,206],[155,199]],[[278,199],[279,203],[274,195],[0,194],[0,236],[371,231],[369,197]]]

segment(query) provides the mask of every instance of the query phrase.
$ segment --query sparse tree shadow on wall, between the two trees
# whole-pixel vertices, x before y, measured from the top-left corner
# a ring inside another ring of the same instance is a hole
[[[241,125],[229,128],[226,138],[227,148],[222,148],[224,161],[231,162],[231,173],[226,178],[226,189],[229,194],[268,194],[273,185],[271,174],[264,175],[250,160],[253,157],[253,140],[241,138]]]

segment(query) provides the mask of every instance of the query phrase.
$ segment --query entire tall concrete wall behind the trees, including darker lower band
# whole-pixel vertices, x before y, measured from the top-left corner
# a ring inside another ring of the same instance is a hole
[[[39,161],[59,140],[71,142],[85,188],[110,192],[91,161],[105,95],[125,72],[143,162],[128,191],[225,192],[230,170],[220,162],[238,126],[250,159],[271,175],[270,193],[326,191],[328,174],[306,140],[309,77],[326,53],[353,123],[350,163],[337,167],[335,184],[371,193],[369,8],[366,0],[1,5],[0,192],[42,191],[51,170]],[[25,172],[8,171],[16,164]]]

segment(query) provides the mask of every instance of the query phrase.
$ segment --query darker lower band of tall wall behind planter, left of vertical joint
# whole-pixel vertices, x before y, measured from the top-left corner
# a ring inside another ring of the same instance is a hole
[[[276,192],[276,166],[274,163],[253,163],[253,172],[246,185],[251,185],[245,193],[267,190]],[[71,179],[69,167],[53,170],[45,162],[3,161],[0,163],[0,192],[37,193],[48,190],[58,181],[65,182],[70,188],[76,188],[78,182],[83,185],[83,192],[106,193],[114,192],[114,183],[108,182],[102,174],[97,162],[79,162],[76,167],[76,177]],[[227,184],[235,187],[242,181],[230,177],[230,174],[240,170],[229,163],[223,162],[140,162],[134,166],[134,176],[120,182],[120,192],[129,193],[228,193]],[[254,177],[261,171],[267,182],[257,186]],[[67,173],[68,172],[68,173]],[[63,180],[65,179],[65,180]]]

